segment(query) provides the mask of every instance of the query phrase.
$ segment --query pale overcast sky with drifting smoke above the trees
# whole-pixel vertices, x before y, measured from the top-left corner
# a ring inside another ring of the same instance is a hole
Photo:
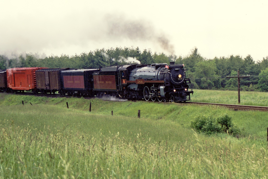
[[[207,59],[268,56],[268,1],[3,1],[0,54],[139,47]]]

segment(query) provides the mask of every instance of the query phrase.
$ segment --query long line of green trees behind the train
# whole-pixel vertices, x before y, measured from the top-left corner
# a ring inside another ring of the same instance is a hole
[[[184,64],[187,78],[190,78],[192,82],[190,88],[193,89],[237,90],[237,78],[226,78],[226,76],[237,76],[239,70],[240,75],[250,76],[240,79],[241,90],[268,91],[268,56],[257,62],[250,55],[244,58],[231,55],[206,59],[200,55],[197,48],[185,57],[167,56],[164,53],[153,54],[150,49],[140,51],[138,47],[96,49],[80,55],[62,54],[45,58],[39,58],[34,54],[24,54],[15,58],[0,55],[0,69],[15,67],[97,69],[130,63],[169,64],[170,61],[175,61],[175,64]]]

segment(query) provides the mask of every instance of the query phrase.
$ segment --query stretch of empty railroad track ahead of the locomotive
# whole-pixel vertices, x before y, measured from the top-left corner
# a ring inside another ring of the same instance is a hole
[[[199,103],[199,102],[185,102],[185,104],[220,106],[220,107],[226,107],[226,108],[230,108],[234,110],[268,111],[268,107],[266,106],[247,106],[247,105],[237,105],[237,104],[218,104],[218,103]]]

